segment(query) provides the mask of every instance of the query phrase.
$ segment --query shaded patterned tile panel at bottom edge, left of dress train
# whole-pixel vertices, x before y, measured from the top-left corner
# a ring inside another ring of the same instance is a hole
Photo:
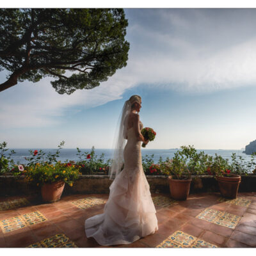
[[[40,242],[30,244],[28,248],[74,248],[76,244],[64,234],[56,234]]]

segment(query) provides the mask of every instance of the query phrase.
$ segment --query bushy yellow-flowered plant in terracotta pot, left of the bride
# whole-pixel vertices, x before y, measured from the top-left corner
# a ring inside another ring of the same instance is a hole
[[[71,163],[36,163],[35,166],[28,166],[26,180],[41,188],[42,199],[45,202],[56,202],[60,200],[65,183],[73,186],[79,174],[79,170]]]

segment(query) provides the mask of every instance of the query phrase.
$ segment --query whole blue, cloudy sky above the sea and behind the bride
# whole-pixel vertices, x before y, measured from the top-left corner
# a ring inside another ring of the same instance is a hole
[[[93,90],[58,95],[51,78],[0,93],[10,148],[111,148],[125,100],[142,97],[148,148],[240,149],[256,139],[255,9],[125,9],[127,67]],[[5,81],[6,73],[0,73]]]

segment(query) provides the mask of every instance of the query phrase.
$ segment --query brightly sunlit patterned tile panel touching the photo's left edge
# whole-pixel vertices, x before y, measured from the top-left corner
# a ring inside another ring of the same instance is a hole
[[[7,232],[12,232],[13,230],[17,230],[19,228],[28,227],[28,225],[33,225],[45,220],[47,219],[42,213],[38,211],[29,212],[27,214],[23,214],[17,217],[1,220],[0,227],[3,233],[7,233]]]

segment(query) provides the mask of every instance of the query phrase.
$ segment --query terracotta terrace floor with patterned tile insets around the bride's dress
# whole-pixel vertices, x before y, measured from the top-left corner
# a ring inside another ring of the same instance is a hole
[[[175,201],[152,194],[159,230],[132,244],[114,248],[256,247],[256,193],[225,200],[219,193],[189,195]],[[0,247],[97,247],[84,221],[103,212],[108,195],[68,195],[45,204],[31,196],[0,197]]]

